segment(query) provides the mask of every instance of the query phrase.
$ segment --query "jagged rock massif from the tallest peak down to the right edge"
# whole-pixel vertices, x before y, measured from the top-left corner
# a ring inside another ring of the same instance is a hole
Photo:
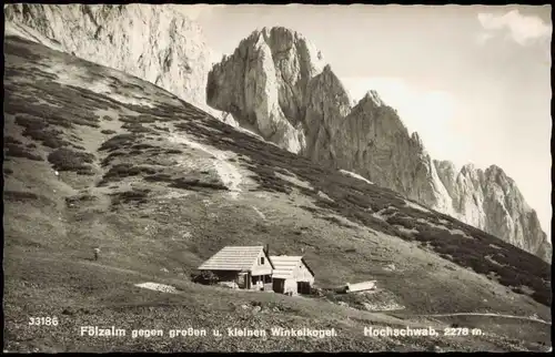
[[[206,100],[291,152],[360,174],[551,261],[551,244],[497,166],[460,172],[432,160],[417,133],[370,91],[352,106],[322,54],[301,34],[254,31],[210,71]]]

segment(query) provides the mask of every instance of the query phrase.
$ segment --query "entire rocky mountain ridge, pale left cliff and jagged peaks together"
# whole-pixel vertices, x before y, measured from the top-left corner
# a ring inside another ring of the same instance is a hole
[[[281,147],[361,174],[551,261],[552,246],[537,214],[528,212],[511,180],[504,178],[502,185],[487,181],[491,192],[482,192],[486,183],[481,171],[471,173],[474,169],[464,166],[458,173],[441,172],[443,166],[428,155],[417,133],[410,134],[375,91],[352,105],[322,53],[295,31],[279,27],[253,31],[210,70],[210,49],[201,29],[171,7],[9,4],[4,13],[19,29],[33,29],[36,41],[50,41],[53,48],[158,83],[231,125],[242,122]],[[121,18],[128,20],[119,23]],[[169,20],[168,27],[161,27],[162,18]],[[115,31],[143,28],[144,32],[144,24],[151,34],[150,52],[124,35],[125,30]],[[176,29],[183,31],[179,37]],[[256,64],[249,67],[246,60]],[[150,78],[152,73],[159,74]],[[219,115],[212,108],[231,115]]]

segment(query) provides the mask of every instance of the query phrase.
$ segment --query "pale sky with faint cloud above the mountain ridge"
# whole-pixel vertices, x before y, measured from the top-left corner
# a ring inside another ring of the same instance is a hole
[[[282,26],[322,52],[354,100],[376,90],[431,156],[501,166],[551,237],[551,7],[183,6],[214,50]]]

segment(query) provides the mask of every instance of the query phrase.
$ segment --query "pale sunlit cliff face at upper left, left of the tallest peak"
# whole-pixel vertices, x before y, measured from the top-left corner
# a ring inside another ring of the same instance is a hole
[[[205,111],[211,49],[201,28],[172,6],[8,4],[7,33],[118,69]]]

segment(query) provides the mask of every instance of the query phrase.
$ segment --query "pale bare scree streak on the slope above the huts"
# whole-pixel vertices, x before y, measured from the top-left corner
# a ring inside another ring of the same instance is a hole
[[[243,182],[243,175],[235,165],[228,162],[228,159],[230,157],[229,154],[213,147],[206,147],[195,141],[189,140],[185,135],[182,134],[178,135],[172,133],[169,136],[169,140],[170,142],[185,144],[190,147],[211,155],[213,157],[212,164],[218,172],[218,175],[222,180],[223,184],[228,187],[228,190],[231,191],[231,197],[234,200],[239,197],[239,194],[241,192],[240,185]]]

